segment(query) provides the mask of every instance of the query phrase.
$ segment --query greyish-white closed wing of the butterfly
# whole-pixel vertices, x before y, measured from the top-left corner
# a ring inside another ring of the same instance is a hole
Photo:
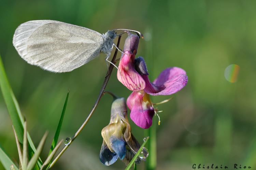
[[[52,72],[72,71],[93,60],[102,44],[96,31],[53,20],[25,22],[13,36],[13,45],[25,61]]]

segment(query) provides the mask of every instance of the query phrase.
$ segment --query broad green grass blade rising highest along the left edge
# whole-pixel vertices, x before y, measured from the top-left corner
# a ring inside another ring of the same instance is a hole
[[[6,76],[2,59],[0,56],[0,87],[3,94],[3,98],[6,104],[6,107],[8,109],[9,115],[11,117],[11,121],[13,124],[13,127],[15,129],[15,132],[17,134],[17,138],[20,143],[23,143],[23,133],[24,133],[24,118],[20,112],[19,104],[13,94],[12,88],[10,86],[10,83],[8,81],[8,78]],[[35,146],[32,142],[32,139],[27,133],[28,143],[29,143],[29,157],[31,158],[33,153],[36,151]],[[39,158],[38,167],[36,169],[40,169],[42,161]]]

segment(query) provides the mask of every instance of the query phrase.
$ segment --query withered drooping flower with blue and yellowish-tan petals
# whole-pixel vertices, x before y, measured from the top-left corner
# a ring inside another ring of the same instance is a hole
[[[129,164],[140,149],[139,142],[131,133],[124,98],[113,101],[110,123],[102,129],[101,136],[103,143],[100,150],[100,161],[106,166],[115,163],[118,157],[125,164]]]

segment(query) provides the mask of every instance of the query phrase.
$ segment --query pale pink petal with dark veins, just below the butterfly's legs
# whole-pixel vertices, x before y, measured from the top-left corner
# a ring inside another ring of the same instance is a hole
[[[129,90],[140,91],[145,88],[146,84],[134,68],[134,55],[129,51],[125,51],[118,66],[120,72],[117,71],[117,79]]]

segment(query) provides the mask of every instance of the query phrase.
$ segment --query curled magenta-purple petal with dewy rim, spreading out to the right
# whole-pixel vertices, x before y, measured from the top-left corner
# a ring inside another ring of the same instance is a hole
[[[146,82],[144,90],[150,95],[174,94],[185,87],[188,81],[186,71],[179,67],[170,67],[163,70],[153,83],[150,83],[147,77],[143,78]]]

